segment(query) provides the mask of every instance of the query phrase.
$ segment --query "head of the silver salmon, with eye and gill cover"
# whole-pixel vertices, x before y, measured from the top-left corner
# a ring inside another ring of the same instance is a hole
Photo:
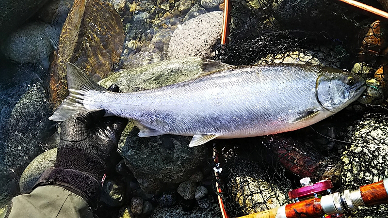
[[[319,104],[333,113],[354,102],[365,90],[362,77],[345,70],[323,67],[318,73],[316,98]]]

